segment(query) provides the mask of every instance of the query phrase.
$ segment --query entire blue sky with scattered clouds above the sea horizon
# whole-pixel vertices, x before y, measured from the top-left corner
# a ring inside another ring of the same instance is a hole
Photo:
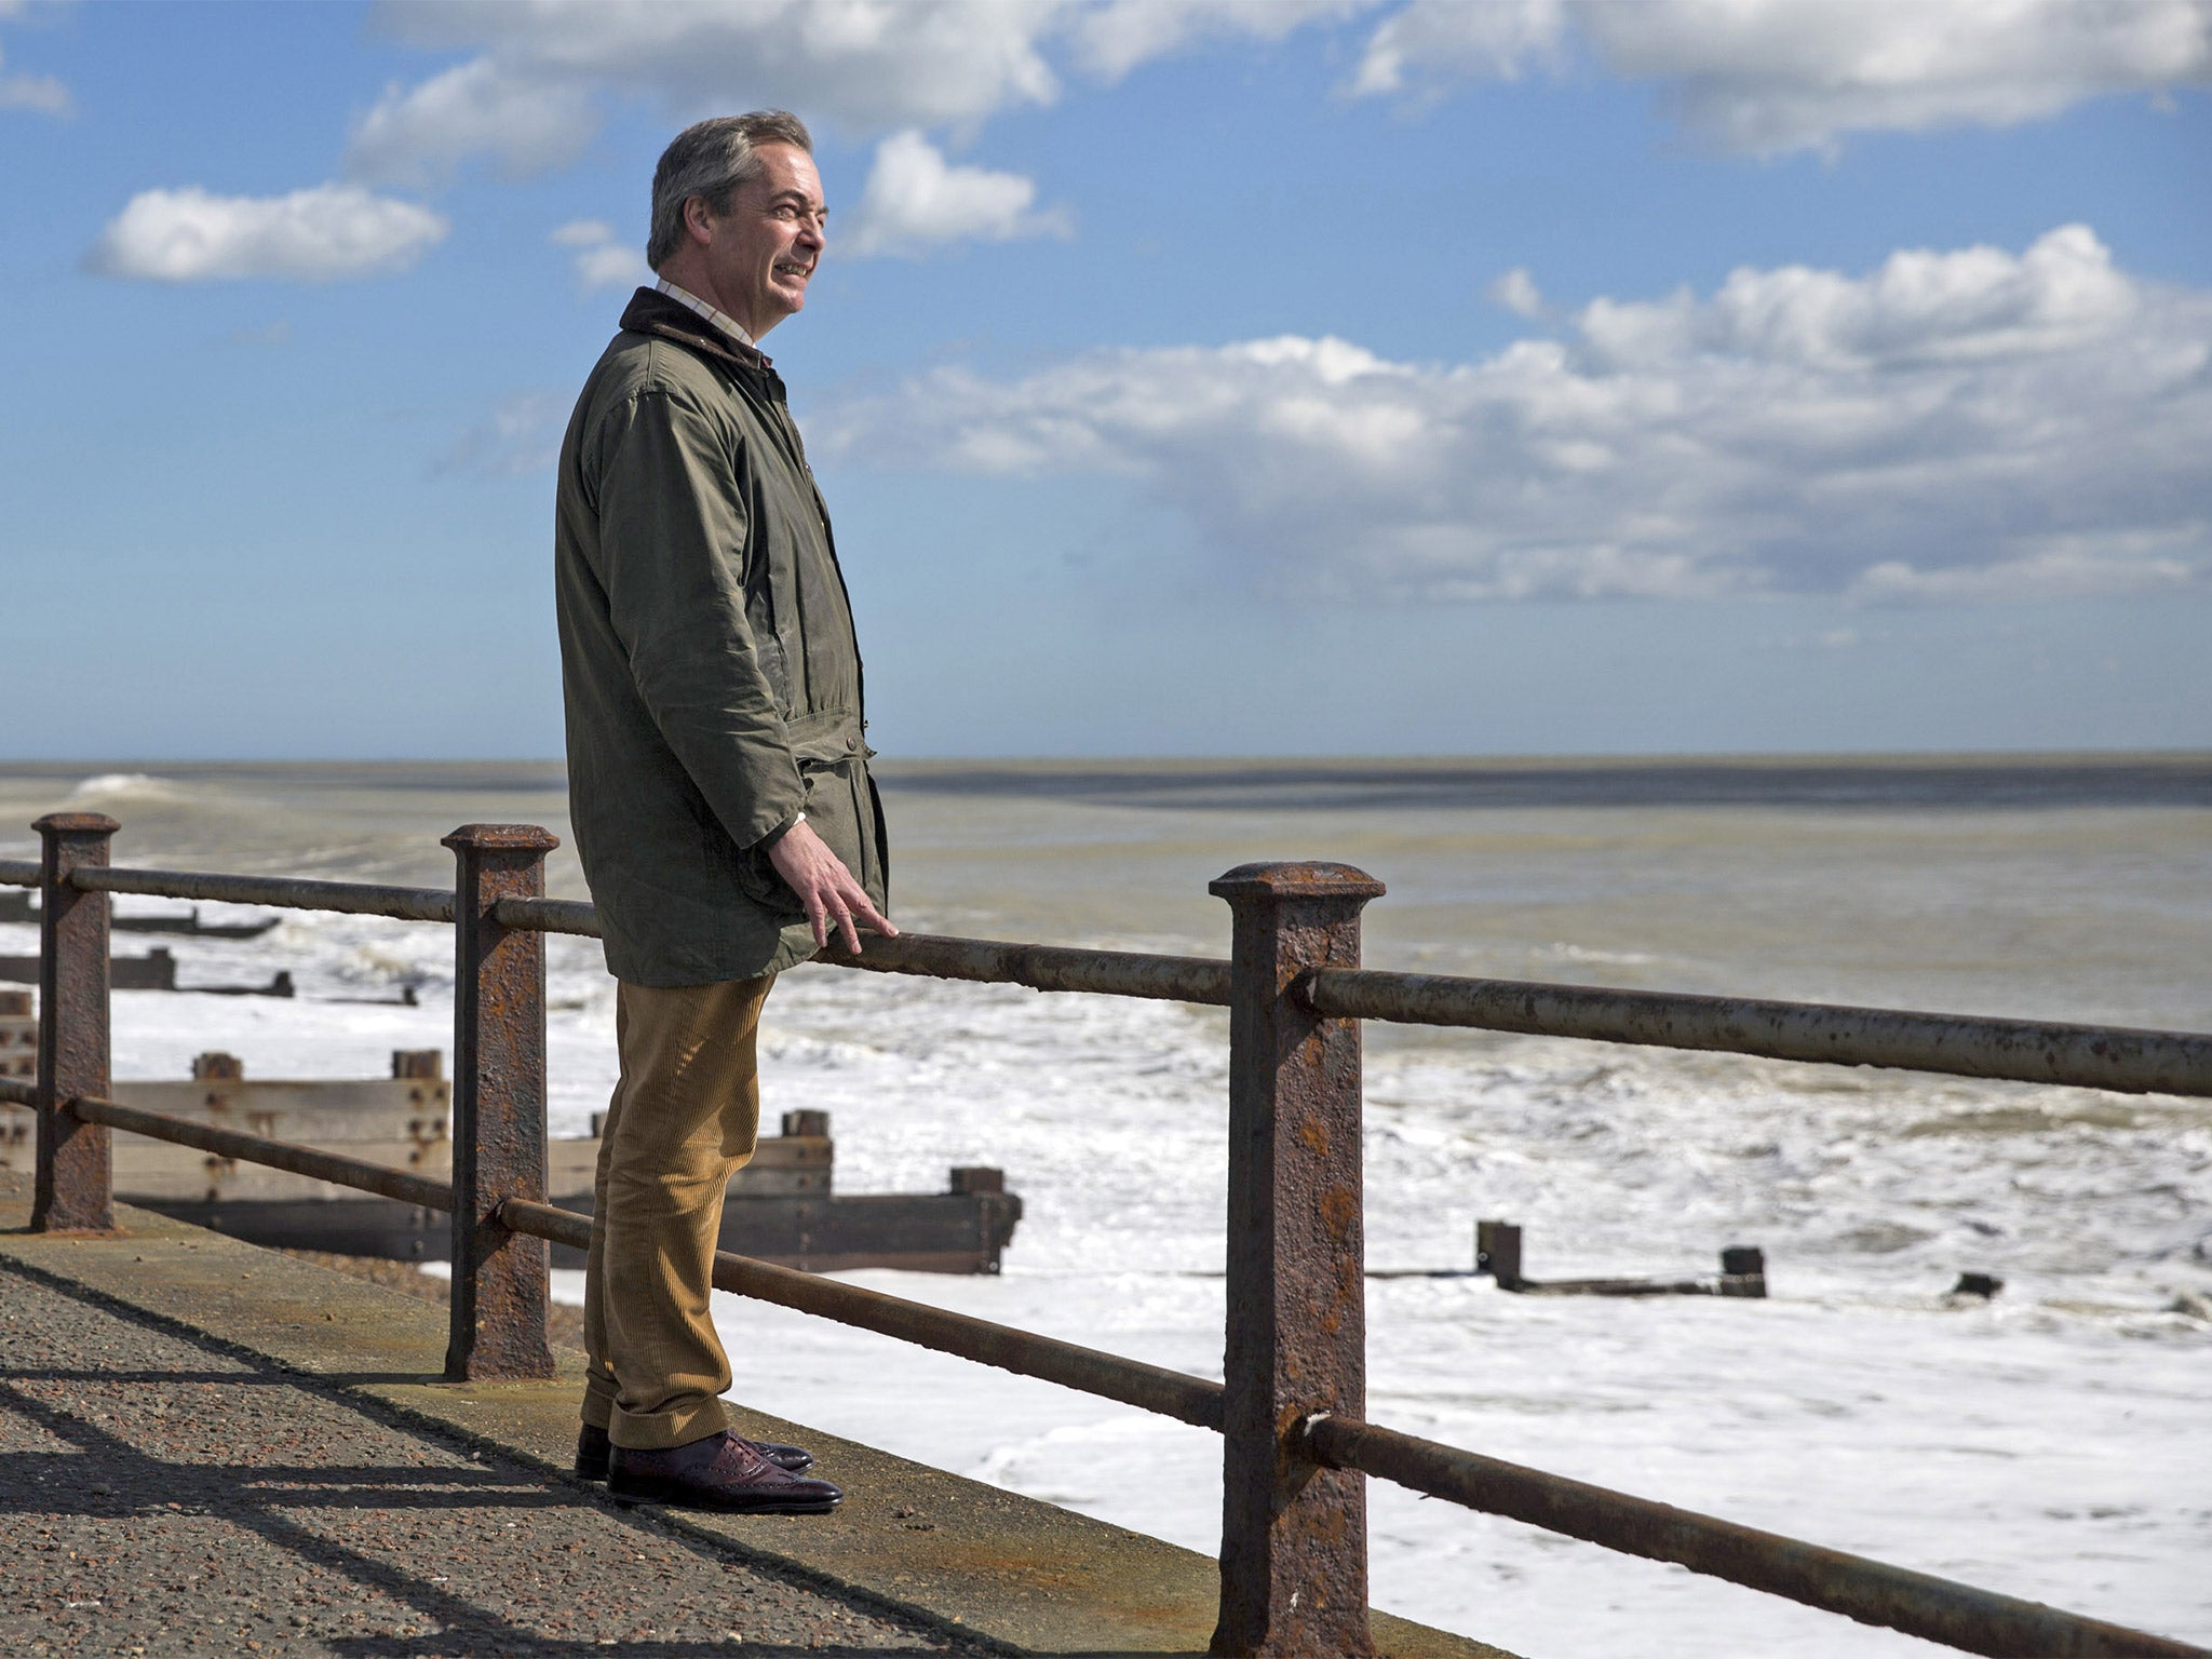
[[[653,159],[889,754],[2212,745],[2212,0],[0,0],[33,757],[557,754]]]

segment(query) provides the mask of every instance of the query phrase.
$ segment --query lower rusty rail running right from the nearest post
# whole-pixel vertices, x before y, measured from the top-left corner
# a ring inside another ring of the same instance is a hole
[[[2203,1659],[2203,1648],[2143,1630],[2062,1613],[2042,1601],[1978,1590],[1865,1555],[1805,1544],[1778,1533],[1699,1515],[1648,1498],[1593,1486],[1540,1469],[1442,1447],[1352,1418],[1310,1418],[1303,1440],[1318,1462],[1444,1498],[1486,1515],[1542,1526],[1624,1555],[1674,1562],[1692,1573],[1940,1641],[1964,1652],[2017,1659],[2104,1659],[2143,1655]]]

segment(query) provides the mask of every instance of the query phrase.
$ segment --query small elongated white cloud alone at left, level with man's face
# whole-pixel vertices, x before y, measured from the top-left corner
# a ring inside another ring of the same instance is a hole
[[[385,276],[414,265],[445,232],[442,215],[349,184],[285,197],[142,190],[100,234],[91,268],[164,283]]]

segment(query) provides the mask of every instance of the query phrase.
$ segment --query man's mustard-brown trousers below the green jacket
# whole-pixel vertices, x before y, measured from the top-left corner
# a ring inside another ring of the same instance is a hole
[[[617,984],[622,1079],[584,1265],[584,1422],[617,1447],[664,1451],[730,1427],[708,1301],[721,1201],[761,1130],[754,1040],[772,984]]]

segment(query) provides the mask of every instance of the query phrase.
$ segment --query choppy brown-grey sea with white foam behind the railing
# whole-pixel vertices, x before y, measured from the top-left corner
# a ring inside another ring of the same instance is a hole
[[[1221,956],[1210,878],[1334,858],[1389,887],[1374,967],[2212,1031],[2205,754],[883,783],[914,931]],[[4,765],[0,856],[55,807],[119,818],[117,863],[418,885],[451,880],[460,823],[566,838],[551,763]],[[566,847],[551,889],[584,896]],[[204,1048],[361,1077],[451,1044],[449,929],[119,936],[148,942],[186,989],[115,995],[119,1077]],[[33,949],[0,925],[0,953]],[[294,1000],[190,989],[276,969]],[[613,991],[595,942],[549,940],[555,1133],[606,1104]],[[1000,1276],[856,1283],[1217,1378],[1225,1053],[1221,1011],[805,967],[768,1004],[763,1113],[832,1113],[843,1192],[991,1164],[1022,1197]],[[1376,1422],[2212,1641],[2212,1102],[1371,1024],[1365,1152]],[[1511,1296],[1469,1272],[1482,1217],[1524,1228],[1535,1279],[1683,1279],[1759,1245],[1770,1296]],[[1969,1272],[2002,1290],[1951,1294]],[[717,1321],[748,1405],[1219,1542],[1210,1433],[741,1298]],[[1933,1652],[1385,1482],[1369,1515],[1378,1606],[1528,1659]]]

